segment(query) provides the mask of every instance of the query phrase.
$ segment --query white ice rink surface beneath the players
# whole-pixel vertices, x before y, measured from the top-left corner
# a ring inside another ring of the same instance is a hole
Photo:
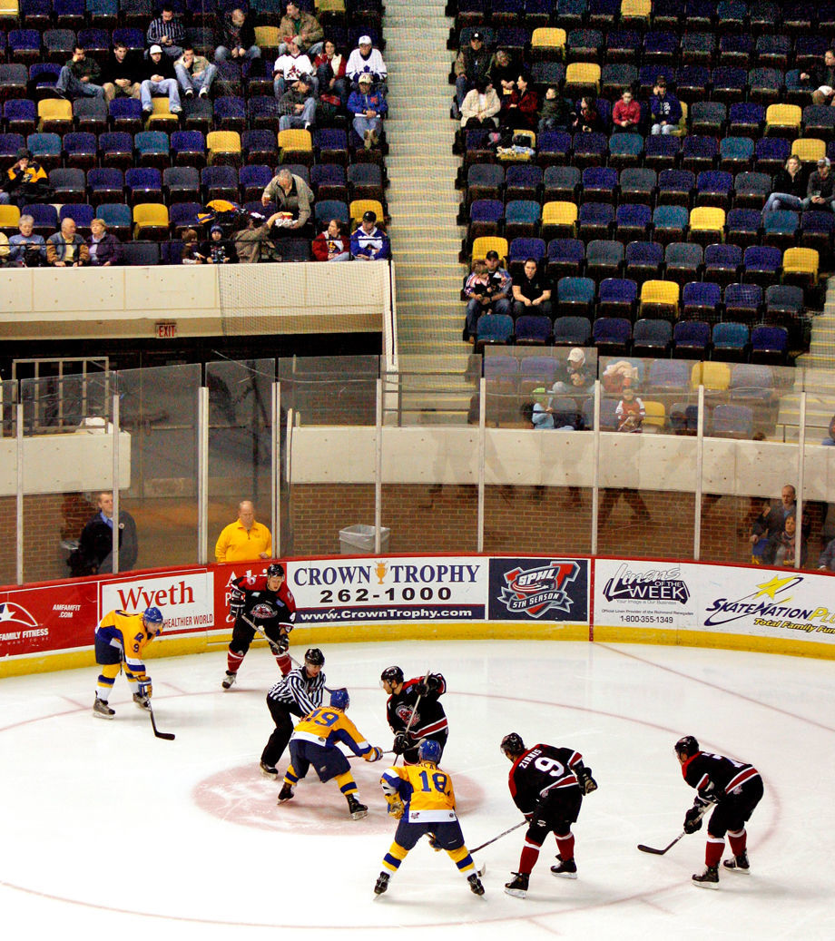
[[[577,881],[549,872],[549,837],[527,899],[506,896],[520,828],[475,854],[488,866],[483,898],[423,840],[373,901],[395,826],[377,786],[391,756],[352,762],[370,806],[365,820],[351,821],[336,785],[315,778],[278,806],[281,780],[258,769],[273,727],[265,692],[275,662],[253,649],[224,693],[218,652],[150,662],[157,726],[175,742],[153,737],[123,678],[111,697],[115,721],[94,720],[95,668],[0,681],[4,935],[835,937],[835,663],[529,641],[324,649],[328,685],[348,687],[350,717],[384,748],[392,735],[380,671],[398,663],[407,676],[445,675],[451,733],[442,767],[453,775],[471,847],[522,820],[499,751],[506,732],[581,751],[600,789],[573,826]],[[752,874],[720,874],[718,891],[690,884],[703,869],[704,829],[665,856],[636,850],[681,833],[695,795],[673,753],[684,734],[751,762],[765,784],[748,825]]]

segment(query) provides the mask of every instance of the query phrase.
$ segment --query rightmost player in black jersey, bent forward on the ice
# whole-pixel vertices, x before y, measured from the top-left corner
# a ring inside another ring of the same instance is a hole
[[[715,805],[707,825],[705,870],[693,876],[693,885],[719,887],[719,860],[725,850],[726,831],[733,858],[725,860],[724,868],[749,875],[746,821],[763,797],[763,778],[744,761],[700,751],[692,735],[679,739],[675,749],[684,780],[697,790],[693,806],[684,815],[684,833],[700,830],[701,818],[710,805]]]

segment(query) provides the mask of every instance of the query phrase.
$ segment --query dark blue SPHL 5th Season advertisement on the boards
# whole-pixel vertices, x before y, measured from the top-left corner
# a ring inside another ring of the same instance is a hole
[[[588,566],[588,559],[490,559],[490,620],[588,624]]]

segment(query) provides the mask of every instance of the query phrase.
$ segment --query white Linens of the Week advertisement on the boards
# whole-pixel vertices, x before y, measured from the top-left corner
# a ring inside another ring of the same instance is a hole
[[[700,630],[699,576],[702,566],[677,562],[594,564],[594,620],[606,627]]]

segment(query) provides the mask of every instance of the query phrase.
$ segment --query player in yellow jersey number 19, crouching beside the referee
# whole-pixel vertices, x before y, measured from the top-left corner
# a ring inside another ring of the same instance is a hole
[[[323,784],[336,778],[348,802],[351,820],[360,821],[368,816],[368,807],[357,800],[357,782],[351,774],[348,759],[337,744],[344,742],[355,755],[366,761],[379,761],[383,753],[376,745],[369,745],[345,715],[350,703],[347,690],[334,690],[330,694],[329,706],[313,710],[296,726],[290,740],[290,765],[284,773],[279,804],[293,797],[296,785],[313,765]]]

